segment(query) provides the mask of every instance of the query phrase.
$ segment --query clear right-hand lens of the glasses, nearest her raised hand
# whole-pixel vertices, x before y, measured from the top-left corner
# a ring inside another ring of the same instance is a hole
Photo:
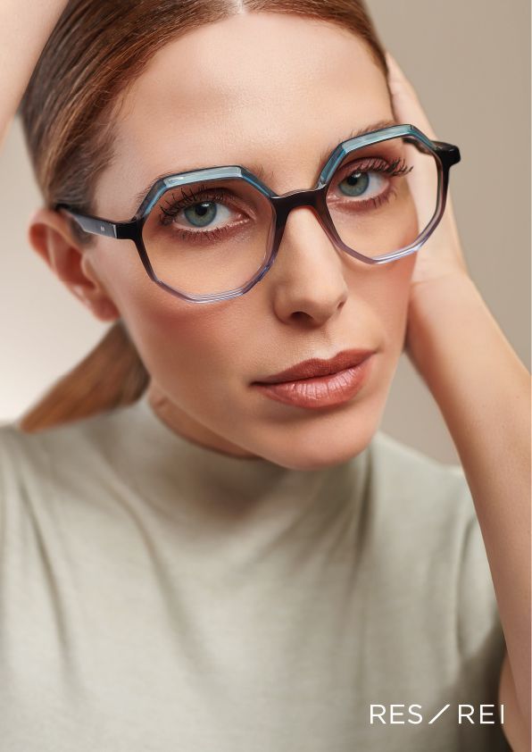
[[[415,243],[436,212],[437,193],[436,157],[396,137],[346,155],[327,205],[345,245],[374,258]]]

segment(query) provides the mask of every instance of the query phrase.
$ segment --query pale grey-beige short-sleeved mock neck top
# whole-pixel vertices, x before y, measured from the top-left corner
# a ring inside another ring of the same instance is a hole
[[[142,397],[0,427],[0,502],[1,752],[510,749],[458,466],[378,431],[290,470],[196,445]]]

